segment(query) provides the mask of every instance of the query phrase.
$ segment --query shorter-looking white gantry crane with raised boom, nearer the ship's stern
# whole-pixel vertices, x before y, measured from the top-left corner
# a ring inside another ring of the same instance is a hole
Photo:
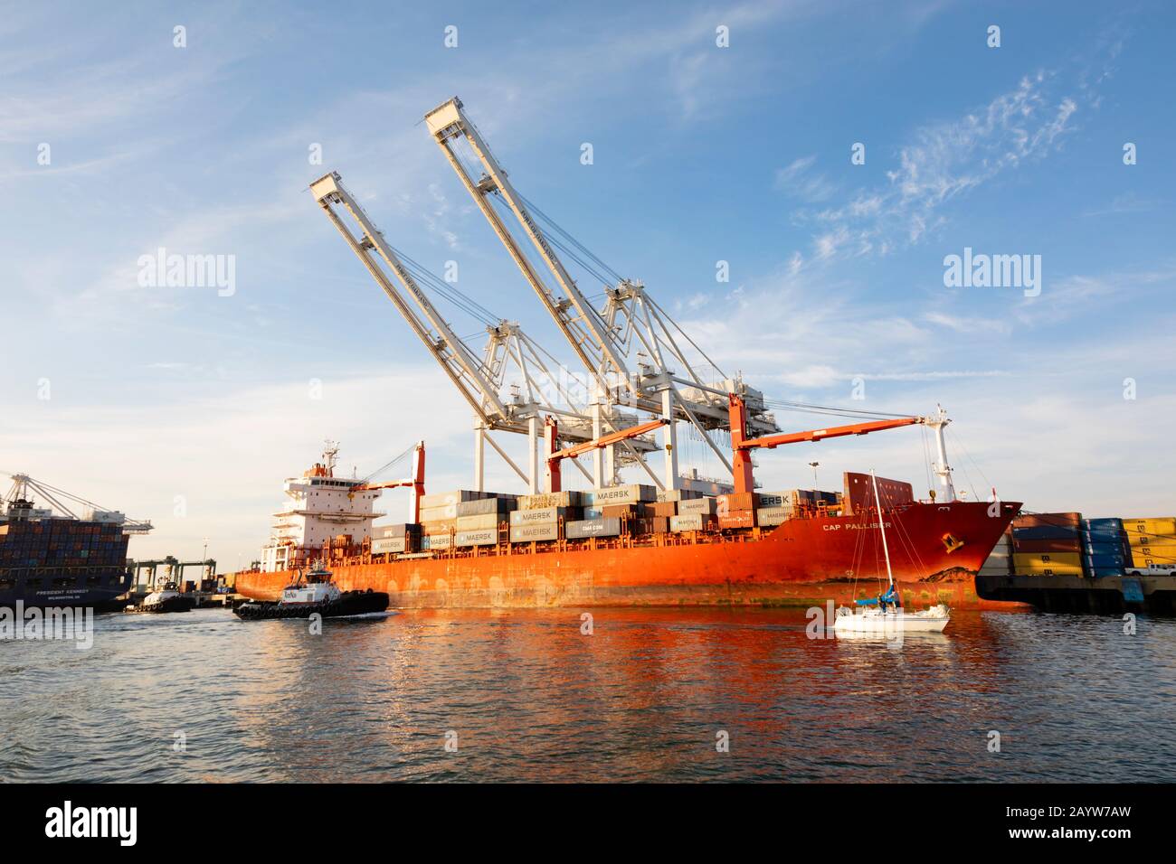
[[[440,363],[457,391],[474,411],[474,483],[485,483],[485,444],[510,466],[532,493],[539,491],[543,474],[540,442],[544,417],[559,420],[560,437],[582,443],[632,426],[635,415],[619,410],[593,411],[576,403],[568,382],[553,373],[550,354],[527,336],[514,321],[496,319],[455,287],[428,273],[403,253],[397,253],[342,185],[338,172],[310,183],[310,193],[339,229],[368,273],[408,322],[425,347]],[[422,287],[447,296],[480,317],[488,340],[479,356],[460,339]],[[528,436],[529,464],[523,470],[490,436],[503,430]],[[644,464],[641,454],[656,449],[656,442],[636,437],[624,442],[629,461]],[[574,462],[592,481],[587,470]]]

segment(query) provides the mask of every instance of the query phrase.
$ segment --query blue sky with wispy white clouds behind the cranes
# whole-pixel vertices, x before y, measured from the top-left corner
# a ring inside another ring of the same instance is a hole
[[[460,262],[463,292],[569,357],[420,123],[452,95],[520,192],[728,371],[779,398],[943,402],[975,494],[1176,511],[1167,5],[341,8],[0,16],[0,470],[153,518],[134,555],[209,537],[222,568],[247,563],[328,436],[361,475],[423,437],[430,485],[468,485],[468,411],[312,200],[326,170],[397,248]],[[140,286],[161,246],[233,255],[234,294]],[[1041,255],[1040,296],[944,287],[965,247]],[[869,467],[926,485],[915,431],[763,454],[759,476],[810,484],[813,460],[827,488]]]

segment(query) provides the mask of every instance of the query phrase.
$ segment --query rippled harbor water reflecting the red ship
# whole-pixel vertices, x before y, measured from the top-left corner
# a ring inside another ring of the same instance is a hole
[[[1176,781],[1176,621],[803,609],[95,619],[0,642],[0,781]]]

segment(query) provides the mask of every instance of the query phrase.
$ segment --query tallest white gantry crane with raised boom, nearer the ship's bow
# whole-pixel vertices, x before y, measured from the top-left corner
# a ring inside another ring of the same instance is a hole
[[[728,397],[731,393],[747,406],[748,434],[779,431],[763,395],[741,380],[722,374],[657,306],[641,282],[620,277],[515,192],[506,170],[466,116],[461,100],[454,98],[434,108],[425,115],[425,123],[592,376],[595,384],[589,407],[592,416],[595,418],[597,414],[623,406],[667,421],[662,427],[664,482],[654,477],[657,485],[673,489],[688,482],[679,474],[677,422],[693,424],[727,470],[733,470],[727,453],[708,434],[716,429],[730,430]],[[467,159],[467,152],[472,153],[473,162]],[[548,230],[540,227],[540,221]],[[517,233],[521,236],[516,236]],[[528,245],[539,262],[528,255]],[[593,307],[580,290],[557,250],[602,283],[602,309]],[[694,349],[701,360],[691,362],[687,348]],[[714,371],[710,381],[704,381],[695,368],[699,363]],[[612,480],[615,474],[615,466],[609,464],[614,456],[612,448],[595,453],[593,481],[603,485],[606,478]]]

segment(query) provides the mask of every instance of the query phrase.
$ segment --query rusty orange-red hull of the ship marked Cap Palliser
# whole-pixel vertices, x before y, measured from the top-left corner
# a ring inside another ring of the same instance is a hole
[[[953,502],[888,514],[891,568],[903,602],[1015,605],[978,597],[975,574],[1018,510],[1005,503],[994,515],[987,503]],[[348,558],[330,569],[340,588],[383,591],[399,609],[817,605],[874,596],[886,581],[876,517],[789,520],[757,538],[655,535],[652,543],[516,544],[383,563]],[[295,575],[240,572],[236,591],[274,600]]]

